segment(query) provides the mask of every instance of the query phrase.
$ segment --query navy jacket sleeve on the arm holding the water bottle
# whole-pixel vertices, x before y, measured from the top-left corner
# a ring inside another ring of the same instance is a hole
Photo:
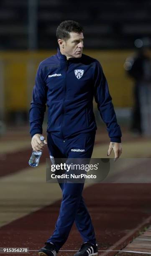
[[[31,137],[36,133],[42,134],[42,124],[44,121],[44,112],[46,111],[47,89],[42,74],[41,64],[38,67],[33,87],[33,96],[31,108],[29,111],[30,133]]]

